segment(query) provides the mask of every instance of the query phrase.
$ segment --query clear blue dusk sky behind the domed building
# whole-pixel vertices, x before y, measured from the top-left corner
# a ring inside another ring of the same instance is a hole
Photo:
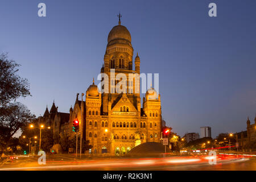
[[[47,16],[38,16],[46,3]],[[217,17],[208,5],[217,4]],[[159,73],[162,114],[179,135],[246,129],[256,113],[256,1],[1,0],[0,52],[21,64],[43,115],[53,100],[68,112],[103,63],[109,31],[122,24],[142,73]],[[135,57],[135,56],[134,56]],[[98,83],[98,82],[97,82]]]

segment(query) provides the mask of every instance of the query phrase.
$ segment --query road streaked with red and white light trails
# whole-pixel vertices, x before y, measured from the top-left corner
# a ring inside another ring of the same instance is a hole
[[[256,160],[243,156],[218,155],[216,164],[209,164],[209,156],[171,156],[166,158],[91,158],[75,159],[73,156],[48,156],[46,164],[38,164],[38,157],[9,160],[0,166],[0,171],[133,171],[133,170],[231,170],[256,171]]]

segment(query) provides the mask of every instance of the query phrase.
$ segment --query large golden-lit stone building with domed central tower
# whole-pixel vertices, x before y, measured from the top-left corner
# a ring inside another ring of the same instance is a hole
[[[141,60],[137,53],[133,69],[133,55],[130,32],[119,19],[118,25],[109,32],[101,73],[110,77],[110,71],[114,69],[115,76],[118,73],[127,77],[129,74],[139,75]],[[82,138],[89,140],[93,146],[89,152],[94,154],[106,152],[122,155],[138,144],[160,142],[160,94],[151,86],[141,106],[140,93],[135,92],[135,85],[140,85],[134,79],[127,80],[127,90],[121,93],[115,89],[118,80],[104,82],[103,87],[110,90],[110,93],[106,93],[100,92],[93,79],[92,85],[86,90],[85,100],[77,94],[75,105],[69,113],[59,113],[53,103],[51,111],[46,109],[42,119],[52,126],[55,137],[60,133],[74,134],[72,122],[78,119]],[[79,97],[82,99],[79,100]]]

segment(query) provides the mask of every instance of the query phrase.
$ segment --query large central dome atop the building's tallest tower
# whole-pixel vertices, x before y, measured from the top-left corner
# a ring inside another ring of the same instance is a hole
[[[108,43],[111,42],[112,40],[117,40],[117,39],[124,39],[131,43],[130,32],[127,30],[125,26],[122,26],[121,24],[114,26],[112,30],[109,32]]]

